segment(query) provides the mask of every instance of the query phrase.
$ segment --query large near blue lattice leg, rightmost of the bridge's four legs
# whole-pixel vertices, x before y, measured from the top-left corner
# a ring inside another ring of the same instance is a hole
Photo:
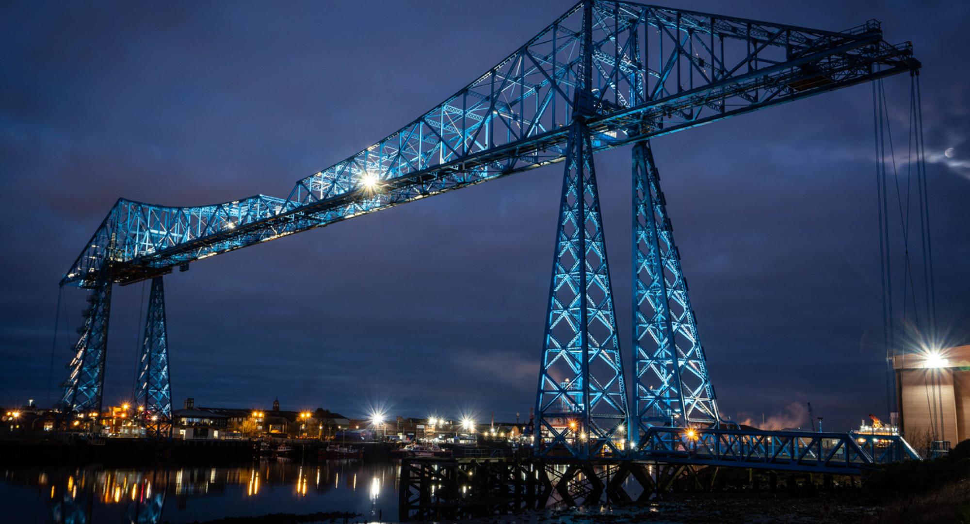
[[[633,146],[633,368],[638,434],[719,420],[648,142]]]

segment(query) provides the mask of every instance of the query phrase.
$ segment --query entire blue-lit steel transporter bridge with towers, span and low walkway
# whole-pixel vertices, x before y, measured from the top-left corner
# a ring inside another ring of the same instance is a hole
[[[158,416],[149,432],[165,435],[171,392],[161,278],[173,268],[565,161],[536,391],[537,453],[744,467],[824,460],[837,468],[845,459],[853,467],[868,455],[847,435],[766,436],[722,420],[649,140],[919,68],[911,46],[889,45],[875,20],[832,32],[583,0],[431,111],[298,180],[286,198],[192,208],[118,200],[61,279],[90,289],[91,304],[69,364],[65,409],[100,409],[113,283],[152,278],[137,402]],[[595,152],[628,144],[633,409],[594,166]]]

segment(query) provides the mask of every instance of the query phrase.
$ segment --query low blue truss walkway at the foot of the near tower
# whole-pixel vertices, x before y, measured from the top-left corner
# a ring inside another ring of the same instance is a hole
[[[641,457],[666,464],[857,475],[899,460],[919,460],[898,435],[880,442],[853,433],[653,427]],[[861,442],[860,442],[861,441]]]

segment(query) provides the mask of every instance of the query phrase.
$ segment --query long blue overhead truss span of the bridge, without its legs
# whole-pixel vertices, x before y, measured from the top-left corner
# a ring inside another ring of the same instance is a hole
[[[90,287],[106,262],[131,282],[215,254],[566,159],[583,64],[594,150],[619,147],[912,71],[909,44],[875,21],[844,32],[630,2],[583,3],[390,136],[299,180],[191,208],[118,200],[62,278]],[[581,52],[589,33],[589,52]],[[113,246],[109,248],[109,244]]]

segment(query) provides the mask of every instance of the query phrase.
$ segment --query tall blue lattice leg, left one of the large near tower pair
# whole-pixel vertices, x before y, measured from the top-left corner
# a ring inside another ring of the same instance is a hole
[[[536,395],[540,454],[618,455],[627,390],[590,131],[572,124]]]

